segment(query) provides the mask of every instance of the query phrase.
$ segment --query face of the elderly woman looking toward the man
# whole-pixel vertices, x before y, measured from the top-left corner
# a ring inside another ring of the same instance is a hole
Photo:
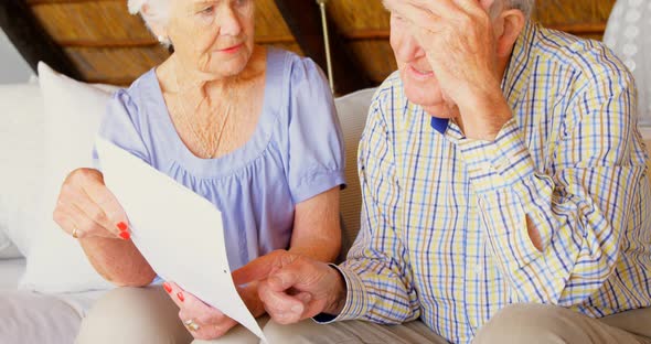
[[[255,0],[172,0],[168,36],[186,72],[230,77],[254,50]]]

